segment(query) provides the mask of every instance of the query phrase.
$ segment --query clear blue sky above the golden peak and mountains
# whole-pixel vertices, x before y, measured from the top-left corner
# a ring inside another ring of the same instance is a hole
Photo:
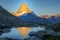
[[[9,12],[16,12],[23,2],[38,16],[60,14],[60,0],[0,0],[0,5]]]

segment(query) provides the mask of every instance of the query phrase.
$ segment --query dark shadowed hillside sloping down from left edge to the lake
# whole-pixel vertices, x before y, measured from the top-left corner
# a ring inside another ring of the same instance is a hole
[[[18,27],[21,20],[0,6],[0,34],[10,32],[10,28]]]

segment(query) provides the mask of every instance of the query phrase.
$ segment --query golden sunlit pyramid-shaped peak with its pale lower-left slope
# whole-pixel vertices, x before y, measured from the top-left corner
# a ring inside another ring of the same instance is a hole
[[[27,7],[27,4],[24,2],[18,9],[16,13],[13,13],[15,16],[22,16],[25,13],[30,13],[31,10]]]

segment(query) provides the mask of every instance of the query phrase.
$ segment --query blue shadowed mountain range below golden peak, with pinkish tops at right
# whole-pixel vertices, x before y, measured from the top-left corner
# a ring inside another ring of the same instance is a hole
[[[18,18],[22,19],[23,21],[27,22],[34,22],[39,24],[56,24],[60,23],[60,16],[45,16],[39,17],[33,11],[31,13],[24,13],[22,16],[18,16]]]

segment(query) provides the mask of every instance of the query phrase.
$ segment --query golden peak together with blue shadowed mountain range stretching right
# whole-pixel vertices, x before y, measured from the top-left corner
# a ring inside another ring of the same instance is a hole
[[[42,17],[37,16],[33,11],[31,11],[26,3],[23,3],[21,7],[19,7],[18,11],[12,13],[18,19],[23,20],[25,23],[36,23],[36,24],[56,24],[60,23],[60,16],[53,15],[44,15]],[[36,25],[35,24],[35,25]]]

